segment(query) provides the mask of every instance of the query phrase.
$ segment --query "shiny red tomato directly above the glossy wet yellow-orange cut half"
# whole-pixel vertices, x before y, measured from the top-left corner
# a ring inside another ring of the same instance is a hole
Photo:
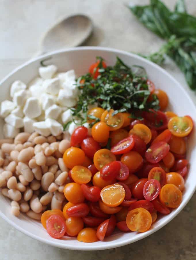
[[[116,178],[121,169],[120,161],[112,161],[103,166],[100,170],[100,176],[104,181],[111,181]]]

